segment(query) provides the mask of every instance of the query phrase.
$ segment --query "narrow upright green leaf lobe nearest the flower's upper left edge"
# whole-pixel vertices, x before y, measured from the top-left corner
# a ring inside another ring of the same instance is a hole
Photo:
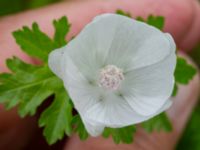
[[[70,30],[70,24],[66,17],[62,17],[59,20],[54,20],[53,25],[55,28],[54,41],[57,47],[62,47],[67,44],[65,37]]]

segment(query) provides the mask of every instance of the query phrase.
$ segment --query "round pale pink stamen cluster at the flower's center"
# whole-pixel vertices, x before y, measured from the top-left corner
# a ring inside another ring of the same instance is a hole
[[[114,65],[107,65],[100,70],[99,86],[109,90],[117,90],[124,80],[123,71]]]

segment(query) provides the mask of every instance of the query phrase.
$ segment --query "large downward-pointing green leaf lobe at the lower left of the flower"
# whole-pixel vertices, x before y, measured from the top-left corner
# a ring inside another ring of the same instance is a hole
[[[39,126],[45,127],[44,136],[49,144],[62,139],[64,134],[71,135],[72,105],[65,89],[58,90],[55,99],[39,119]]]

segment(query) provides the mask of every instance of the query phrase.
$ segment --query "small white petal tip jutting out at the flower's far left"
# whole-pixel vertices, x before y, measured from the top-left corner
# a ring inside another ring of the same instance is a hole
[[[49,54],[48,65],[59,78],[62,78],[62,56],[65,51],[65,47],[56,49]]]

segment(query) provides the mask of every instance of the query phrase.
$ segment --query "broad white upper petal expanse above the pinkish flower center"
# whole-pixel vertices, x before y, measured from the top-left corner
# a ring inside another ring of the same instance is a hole
[[[126,71],[151,65],[169,55],[169,48],[160,30],[121,15],[103,14],[69,42],[66,55],[87,79],[95,80],[103,66],[113,64]]]

